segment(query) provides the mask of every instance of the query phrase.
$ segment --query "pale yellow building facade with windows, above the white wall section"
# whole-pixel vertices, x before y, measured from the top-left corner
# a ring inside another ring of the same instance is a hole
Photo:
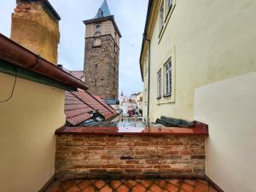
[[[150,0],[143,119],[193,120],[196,88],[256,71],[255,9],[253,0]]]

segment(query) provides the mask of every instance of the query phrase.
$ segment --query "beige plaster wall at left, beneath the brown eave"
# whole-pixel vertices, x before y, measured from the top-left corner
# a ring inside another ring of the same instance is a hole
[[[0,101],[15,78],[0,73]],[[0,103],[1,191],[35,192],[55,174],[55,130],[65,124],[64,90],[17,79]]]

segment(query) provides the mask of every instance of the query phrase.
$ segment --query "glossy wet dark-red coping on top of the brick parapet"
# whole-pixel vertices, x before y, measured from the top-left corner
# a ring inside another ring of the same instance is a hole
[[[61,127],[56,135],[142,135],[142,136],[208,136],[208,126],[195,121],[191,128],[181,127]]]

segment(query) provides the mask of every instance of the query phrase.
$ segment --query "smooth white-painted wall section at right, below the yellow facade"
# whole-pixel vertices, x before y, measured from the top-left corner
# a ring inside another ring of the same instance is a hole
[[[226,192],[255,192],[256,72],[196,89],[195,119],[209,125],[207,176]]]

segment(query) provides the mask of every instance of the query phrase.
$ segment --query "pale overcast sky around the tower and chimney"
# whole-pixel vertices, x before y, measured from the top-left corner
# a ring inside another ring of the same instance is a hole
[[[123,36],[120,41],[119,93],[126,96],[143,90],[139,55],[143,39],[148,0],[107,0]],[[103,0],[49,0],[61,16],[59,63],[69,70],[84,68],[83,20],[93,18]],[[9,37],[15,0],[0,0],[0,32]]]

